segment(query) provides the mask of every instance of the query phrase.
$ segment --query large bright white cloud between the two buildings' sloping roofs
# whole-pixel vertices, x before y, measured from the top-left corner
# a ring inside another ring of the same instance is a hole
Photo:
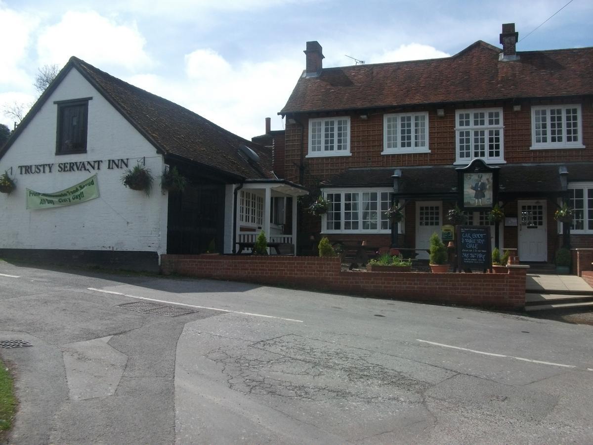
[[[184,61],[183,79],[136,75],[126,81],[246,139],[264,133],[265,117],[272,117],[272,129],[282,129],[277,113],[304,68],[300,57],[297,61],[279,59],[232,65],[212,49],[197,49],[186,55]]]

